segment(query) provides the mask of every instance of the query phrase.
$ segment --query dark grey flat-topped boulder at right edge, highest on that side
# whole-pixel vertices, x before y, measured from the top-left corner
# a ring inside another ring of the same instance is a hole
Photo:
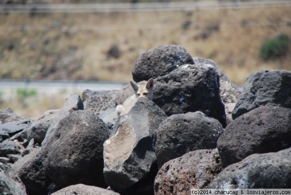
[[[259,71],[251,73],[244,84],[232,118],[259,106],[291,108],[291,71]]]

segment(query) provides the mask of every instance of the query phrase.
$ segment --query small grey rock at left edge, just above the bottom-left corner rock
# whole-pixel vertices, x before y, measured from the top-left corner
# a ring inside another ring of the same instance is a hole
[[[0,157],[7,157],[9,154],[20,154],[24,147],[19,142],[4,141],[0,143]]]

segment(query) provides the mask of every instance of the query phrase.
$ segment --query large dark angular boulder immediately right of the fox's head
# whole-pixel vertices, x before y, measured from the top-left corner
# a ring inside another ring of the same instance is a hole
[[[168,115],[202,111],[226,126],[219,75],[211,65],[183,65],[155,79],[153,102]]]

